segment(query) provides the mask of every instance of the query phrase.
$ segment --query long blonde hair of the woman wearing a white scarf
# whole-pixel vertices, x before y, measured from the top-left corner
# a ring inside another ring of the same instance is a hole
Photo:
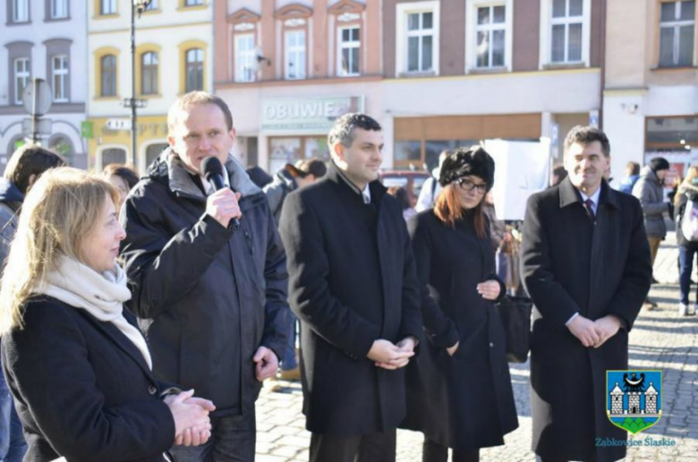
[[[72,167],[49,170],[31,187],[0,282],[0,336],[21,328],[23,304],[59,255],[84,261],[82,241],[102,218],[106,197],[119,201],[114,186]]]

